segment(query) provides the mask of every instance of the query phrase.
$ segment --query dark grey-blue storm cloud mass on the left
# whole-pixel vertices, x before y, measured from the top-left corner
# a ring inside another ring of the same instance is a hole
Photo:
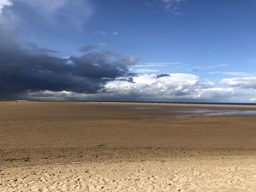
[[[26,91],[97,93],[109,80],[123,77],[135,58],[113,58],[108,52],[59,58],[37,45],[29,50],[0,26],[0,97],[15,98]]]

